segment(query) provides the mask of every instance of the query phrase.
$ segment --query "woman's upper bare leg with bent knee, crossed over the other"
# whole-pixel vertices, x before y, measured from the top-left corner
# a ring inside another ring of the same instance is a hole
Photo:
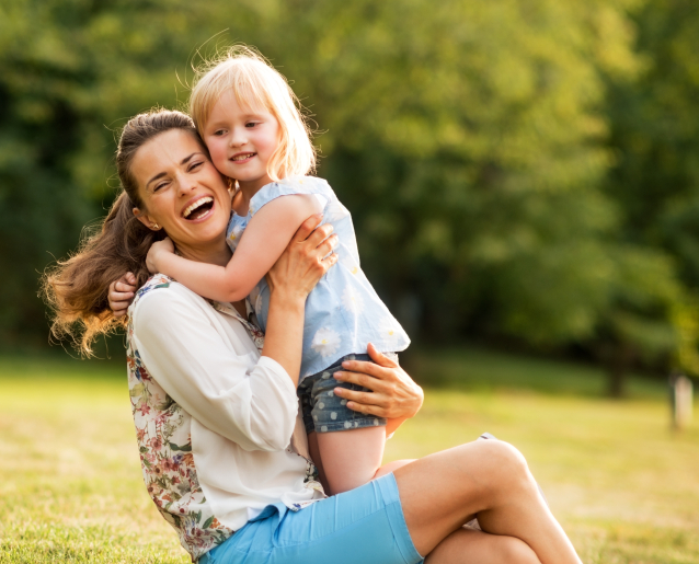
[[[524,541],[541,564],[581,564],[524,457],[506,442],[469,442],[399,468],[394,475],[421,554],[478,514],[483,531]]]

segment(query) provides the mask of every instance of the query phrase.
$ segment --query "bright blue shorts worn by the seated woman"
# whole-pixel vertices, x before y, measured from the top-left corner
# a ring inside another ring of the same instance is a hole
[[[291,511],[268,505],[199,564],[419,564],[393,474]]]

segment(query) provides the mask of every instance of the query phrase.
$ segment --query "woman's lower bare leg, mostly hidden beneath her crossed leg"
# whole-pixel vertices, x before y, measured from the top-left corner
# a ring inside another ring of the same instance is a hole
[[[504,534],[459,529],[443,540],[425,564],[540,564],[524,541]]]

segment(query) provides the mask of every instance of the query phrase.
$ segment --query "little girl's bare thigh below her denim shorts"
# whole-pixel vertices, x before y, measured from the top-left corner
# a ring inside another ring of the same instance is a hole
[[[383,427],[314,435],[331,494],[354,490],[374,479],[383,458]]]

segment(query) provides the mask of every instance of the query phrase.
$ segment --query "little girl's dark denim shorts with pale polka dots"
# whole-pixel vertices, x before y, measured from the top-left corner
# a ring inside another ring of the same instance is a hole
[[[394,353],[385,353],[390,358],[398,359]],[[303,425],[306,433],[333,433],[336,430],[359,429],[363,427],[383,427],[386,419],[352,411],[347,407],[347,400],[335,395],[335,388],[368,392],[366,388],[350,382],[340,382],[333,375],[343,370],[345,360],[367,360],[369,355],[347,355],[342,357],[322,372],[303,378],[297,393],[301,402]]]

